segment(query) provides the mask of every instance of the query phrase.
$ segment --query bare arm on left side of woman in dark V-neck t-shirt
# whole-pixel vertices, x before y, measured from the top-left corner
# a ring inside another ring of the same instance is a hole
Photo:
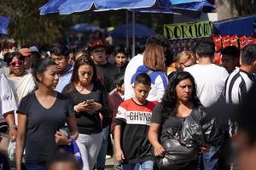
[[[16,161],[16,169],[21,170],[21,162],[22,156],[24,151],[25,145],[25,136],[26,136],[26,122],[27,116],[24,114],[18,115],[18,133],[16,139],[16,154],[15,154],[15,161]]]

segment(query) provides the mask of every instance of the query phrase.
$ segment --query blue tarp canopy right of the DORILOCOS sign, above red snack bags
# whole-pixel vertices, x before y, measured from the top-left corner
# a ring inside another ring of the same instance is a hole
[[[218,21],[213,24],[213,32],[221,36],[252,36],[253,23],[256,23],[256,15]]]

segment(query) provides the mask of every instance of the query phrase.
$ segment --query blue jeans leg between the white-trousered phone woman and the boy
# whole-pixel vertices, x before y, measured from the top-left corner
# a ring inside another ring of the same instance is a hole
[[[108,133],[109,133],[109,126],[103,128],[102,130],[102,147],[96,161],[97,168],[105,167],[106,154],[108,150]]]

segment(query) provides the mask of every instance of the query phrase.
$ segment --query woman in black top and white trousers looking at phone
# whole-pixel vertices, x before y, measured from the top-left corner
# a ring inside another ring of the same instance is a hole
[[[79,127],[77,143],[84,163],[83,170],[93,169],[102,145],[102,118],[108,117],[108,93],[97,78],[90,57],[76,59],[71,83],[62,91],[73,100]]]

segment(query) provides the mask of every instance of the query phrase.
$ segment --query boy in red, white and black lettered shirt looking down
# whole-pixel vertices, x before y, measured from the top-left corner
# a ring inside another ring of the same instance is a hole
[[[138,74],[134,83],[135,96],[119,105],[115,118],[114,145],[117,161],[123,170],[153,169],[148,127],[155,101],[148,101],[151,80],[148,74]]]

